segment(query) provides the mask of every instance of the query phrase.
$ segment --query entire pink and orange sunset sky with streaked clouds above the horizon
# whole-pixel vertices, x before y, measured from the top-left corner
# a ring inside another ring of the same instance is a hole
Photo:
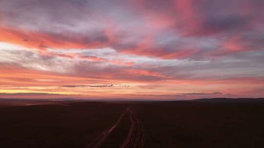
[[[0,98],[65,97],[264,97],[264,0],[0,0]]]

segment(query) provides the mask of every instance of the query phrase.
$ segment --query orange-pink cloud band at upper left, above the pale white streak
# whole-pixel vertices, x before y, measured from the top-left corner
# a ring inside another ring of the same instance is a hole
[[[0,28],[0,40],[40,50],[45,50],[47,47],[54,49],[84,49],[105,47],[107,45],[107,42],[104,41],[92,40],[88,37],[73,34],[65,36],[11,28]]]

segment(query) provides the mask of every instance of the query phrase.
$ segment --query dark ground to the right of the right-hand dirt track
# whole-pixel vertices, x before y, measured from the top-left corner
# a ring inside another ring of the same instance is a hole
[[[135,105],[145,148],[264,148],[264,102]]]

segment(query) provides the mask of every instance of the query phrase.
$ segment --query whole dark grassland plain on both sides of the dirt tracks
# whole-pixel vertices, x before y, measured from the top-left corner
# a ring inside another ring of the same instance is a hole
[[[264,101],[65,104],[0,107],[0,148],[83,148],[127,108],[142,123],[144,148],[264,148]],[[127,112],[99,148],[119,148],[130,125]]]

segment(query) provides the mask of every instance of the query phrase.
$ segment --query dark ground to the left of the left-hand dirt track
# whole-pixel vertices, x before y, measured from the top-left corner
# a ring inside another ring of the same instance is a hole
[[[109,129],[122,105],[78,102],[0,108],[0,148],[75,148]]]

